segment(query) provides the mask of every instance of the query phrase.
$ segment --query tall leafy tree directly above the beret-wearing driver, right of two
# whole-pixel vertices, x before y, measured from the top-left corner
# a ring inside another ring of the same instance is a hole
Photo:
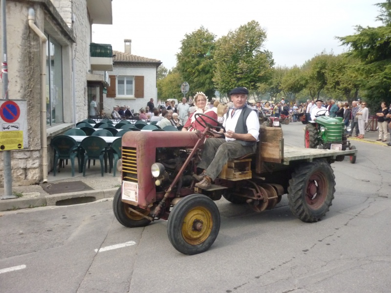
[[[218,91],[228,93],[237,86],[257,90],[257,84],[272,77],[272,53],[262,50],[266,33],[257,21],[241,25],[216,42],[214,82]]]

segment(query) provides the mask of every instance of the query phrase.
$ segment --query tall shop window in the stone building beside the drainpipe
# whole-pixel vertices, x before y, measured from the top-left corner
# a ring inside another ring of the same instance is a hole
[[[46,46],[46,124],[64,122],[62,46],[50,35]]]

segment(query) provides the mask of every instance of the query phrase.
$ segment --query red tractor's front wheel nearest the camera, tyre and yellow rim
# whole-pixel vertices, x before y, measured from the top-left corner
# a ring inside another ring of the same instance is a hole
[[[168,218],[167,234],[174,248],[184,254],[207,251],[220,230],[220,213],[213,200],[203,194],[184,197]]]

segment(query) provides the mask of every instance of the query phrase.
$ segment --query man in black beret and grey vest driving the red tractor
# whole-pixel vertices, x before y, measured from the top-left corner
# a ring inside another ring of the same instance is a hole
[[[200,175],[193,175],[199,181],[195,184],[198,188],[210,188],[229,160],[256,152],[260,123],[257,111],[246,103],[248,90],[236,87],[229,95],[234,105],[224,119],[225,138],[208,138],[205,141],[198,164],[204,170]]]

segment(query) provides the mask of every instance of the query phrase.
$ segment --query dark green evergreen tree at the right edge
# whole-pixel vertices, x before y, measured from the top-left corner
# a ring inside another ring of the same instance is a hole
[[[391,0],[375,4],[380,7],[376,18],[379,27],[356,26],[356,34],[338,37],[349,47],[346,55],[357,58],[354,69],[359,75],[362,94],[375,104],[391,102]]]

